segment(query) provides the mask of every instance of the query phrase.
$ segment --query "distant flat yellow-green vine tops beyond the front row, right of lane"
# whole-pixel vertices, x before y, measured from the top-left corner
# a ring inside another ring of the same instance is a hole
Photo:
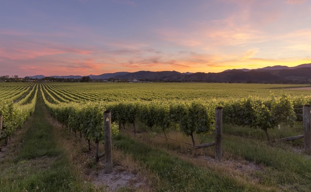
[[[229,84],[229,83],[47,83],[48,87],[68,96],[84,96],[91,100],[193,100],[237,99],[248,96],[269,98],[310,96],[310,91],[290,90],[310,85]]]

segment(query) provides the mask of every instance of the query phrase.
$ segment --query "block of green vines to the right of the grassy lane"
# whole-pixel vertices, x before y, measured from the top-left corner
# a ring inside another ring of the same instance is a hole
[[[271,88],[275,85],[246,85],[243,89],[236,84],[229,85],[230,89],[229,86],[217,89],[221,84],[210,87],[204,87],[204,84],[166,87],[165,84],[143,87],[84,85],[42,83],[40,90],[47,109],[58,122],[96,143],[103,141],[105,110],[113,111],[113,121],[119,126],[132,124],[134,132],[137,120],[151,130],[153,127],[162,129],[164,134],[169,128],[177,128],[190,135],[195,145],[194,133],[214,130],[215,108],[218,106],[224,107],[224,123],[261,128],[269,140],[268,129],[281,123],[293,126],[296,120],[301,119],[297,119],[294,109],[311,103],[311,96],[299,96],[306,92],[273,89],[276,93],[272,95]]]

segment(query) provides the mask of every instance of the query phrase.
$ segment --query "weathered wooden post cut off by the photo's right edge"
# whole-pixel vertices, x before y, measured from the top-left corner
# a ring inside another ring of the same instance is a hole
[[[305,152],[311,152],[311,105],[304,105],[303,117],[304,117],[304,147]]]

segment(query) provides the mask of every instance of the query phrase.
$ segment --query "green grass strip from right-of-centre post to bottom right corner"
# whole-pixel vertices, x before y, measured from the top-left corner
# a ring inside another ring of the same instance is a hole
[[[282,190],[310,191],[311,160],[287,149],[288,144],[273,146],[249,139],[236,140],[234,136],[225,136],[223,142],[227,155],[234,154],[267,166],[263,172],[257,172],[261,184],[279,186]]]

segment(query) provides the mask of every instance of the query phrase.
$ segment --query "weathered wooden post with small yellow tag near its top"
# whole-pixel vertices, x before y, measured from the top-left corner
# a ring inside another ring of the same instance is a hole
[[[104,134],[105,134],[105,173],[113,172],[112,161],[112,138],[111,138],[111,112],[104,112]]]

